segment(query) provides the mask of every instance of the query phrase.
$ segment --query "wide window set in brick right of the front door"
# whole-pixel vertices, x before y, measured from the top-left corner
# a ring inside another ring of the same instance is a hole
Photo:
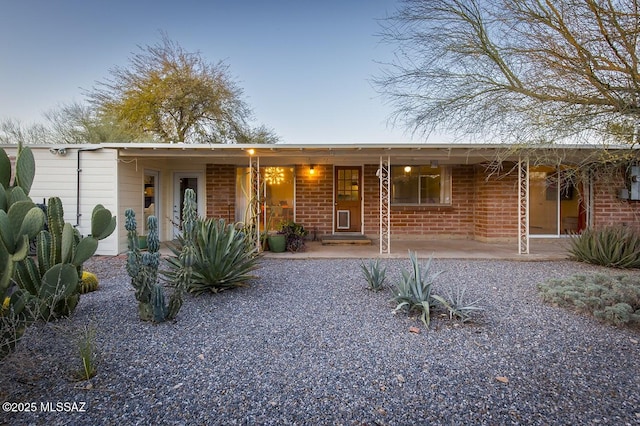
[[[446,166],[392,166],[391,204],[451,204],[451,172]]]

